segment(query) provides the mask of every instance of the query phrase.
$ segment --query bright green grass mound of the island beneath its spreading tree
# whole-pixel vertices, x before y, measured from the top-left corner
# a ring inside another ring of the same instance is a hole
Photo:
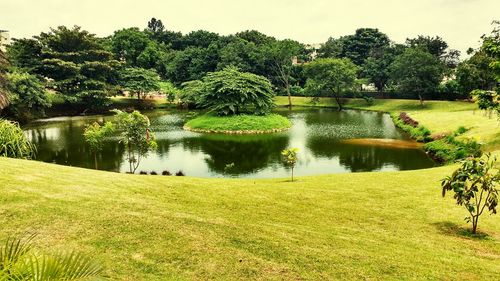
[[[184,128],[187,130],[221,133],[259,133],[283,131],[290,128],[291,123],[279,114],[214,116],[204,114],[189,120]]]

